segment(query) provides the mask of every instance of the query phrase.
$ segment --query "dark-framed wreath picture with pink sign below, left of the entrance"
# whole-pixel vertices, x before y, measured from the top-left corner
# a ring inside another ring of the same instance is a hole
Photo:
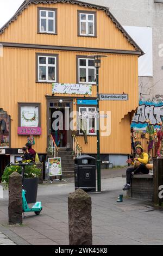
[[[41,135],[40,103],[18,103],[18,135]]]

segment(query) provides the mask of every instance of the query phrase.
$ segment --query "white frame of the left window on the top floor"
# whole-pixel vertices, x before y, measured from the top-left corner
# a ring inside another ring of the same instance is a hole
[[[46,17],[41,17],[41,11],[46,12]],[[48,13],[53,13],[54,17],[48,17]],[[41,20],[46,20],[46,31],[41,30]],[[49,20],[53,20],[54,31],[49,31]],[[40,33],[55,34],[55,11],[54,10],[40,10]]]

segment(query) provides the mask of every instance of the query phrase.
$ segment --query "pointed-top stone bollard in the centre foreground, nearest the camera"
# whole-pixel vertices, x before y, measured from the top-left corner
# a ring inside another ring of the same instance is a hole
[[[82,189],[68,197],[70,245],[92,245],[92,200]]]

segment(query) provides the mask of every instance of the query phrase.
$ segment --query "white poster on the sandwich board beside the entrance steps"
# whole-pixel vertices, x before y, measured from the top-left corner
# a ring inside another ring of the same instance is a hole
[[[60,176],[62,175],[61,158],[49,158],[48,159],[49,176]]]

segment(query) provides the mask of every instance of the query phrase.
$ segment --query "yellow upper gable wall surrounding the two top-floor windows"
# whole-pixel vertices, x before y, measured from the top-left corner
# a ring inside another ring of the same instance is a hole
[[[37,7],[58,9],[58,35],[37,34]],[[78,36],[77,11],[97,12],[97,38]],[[77,4],[31,4],[0,35],[1,42],[135,50],[103,10]]]

